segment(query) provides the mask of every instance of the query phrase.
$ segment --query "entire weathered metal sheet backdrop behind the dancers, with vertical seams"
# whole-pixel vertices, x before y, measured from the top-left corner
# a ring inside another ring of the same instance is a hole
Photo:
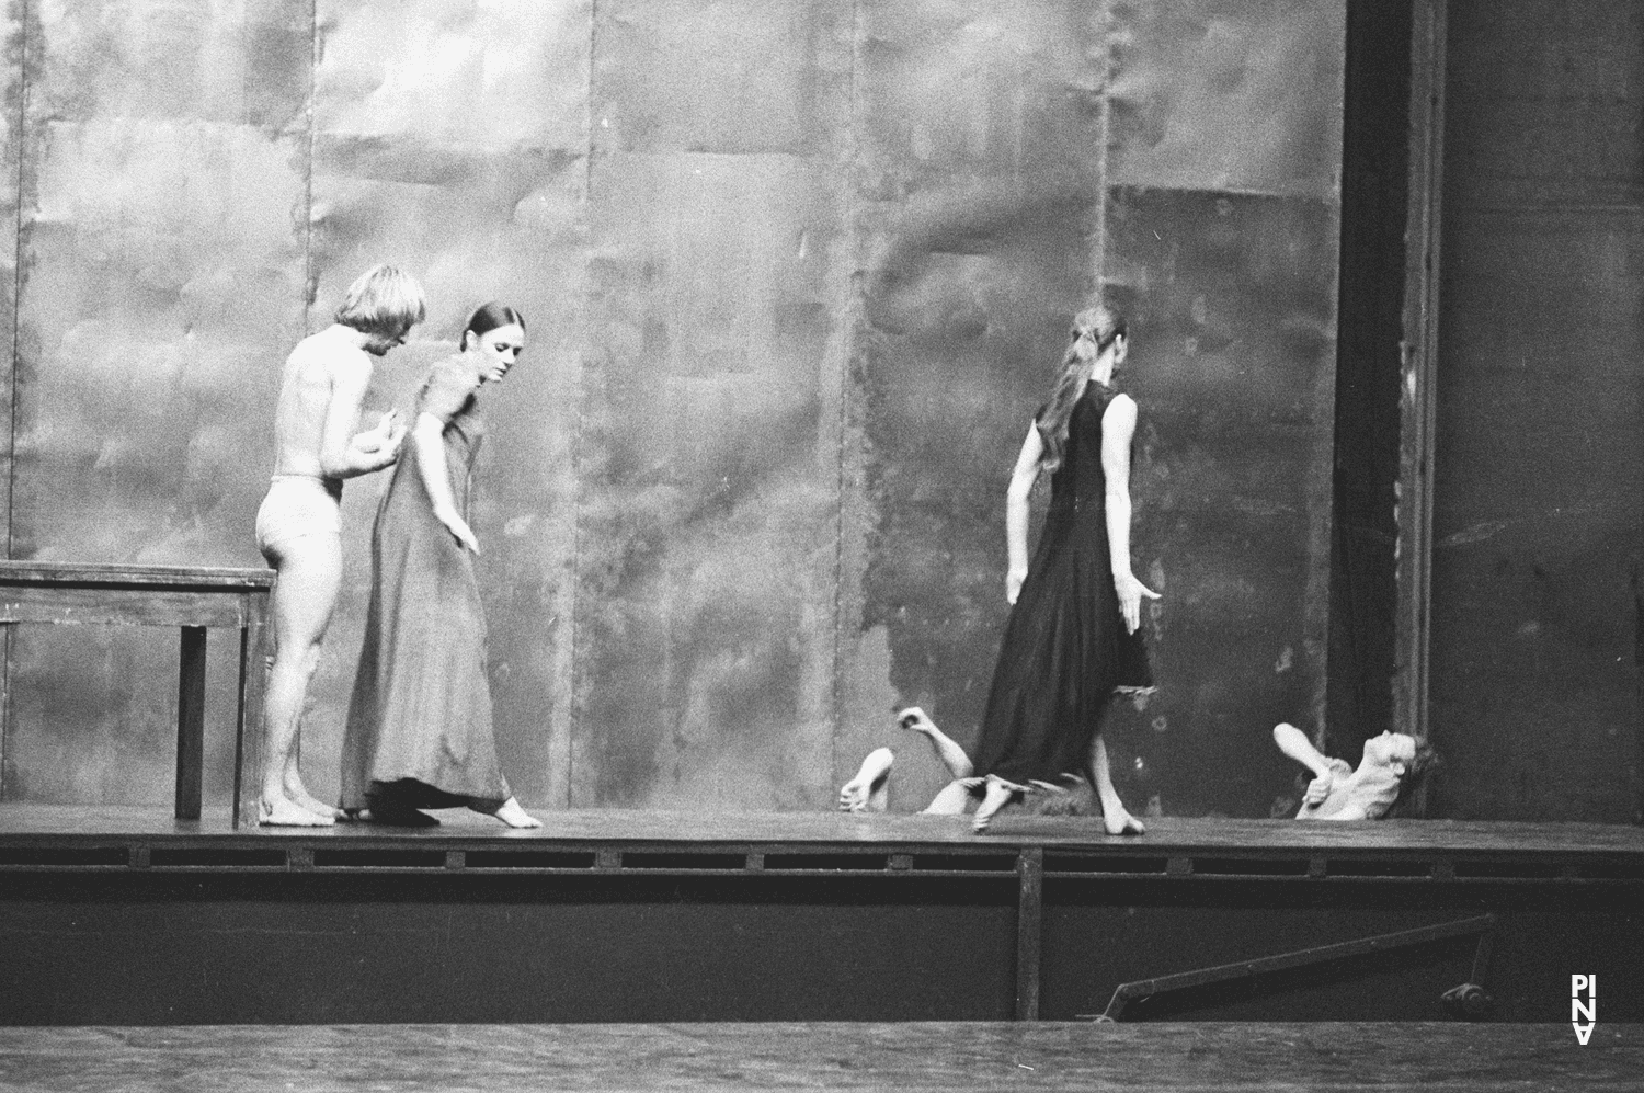
[[[1101,286],[1166,593],[1121,791],[1287,791],[1268,730],[1322,715],[1340,2],[18,10],[15,556],[255,562],[278,365],[391,260],[432,314],[370,409],[473,304],[531,321],[477,521],[521,799],[829,807],[894,705],[970,741],[1009,463]],[[381,485],[344,498],[321,791]],[[164,799],[173,641],[18,634],[5,794]],[[940,776],[901,756],[919,807]]]

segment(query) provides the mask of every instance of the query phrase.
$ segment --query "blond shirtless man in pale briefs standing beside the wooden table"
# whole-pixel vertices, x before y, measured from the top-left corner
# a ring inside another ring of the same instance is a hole
[[[349,286],[335,322],[286,358],[275,411],[279,454],[256,510],[256,547],[276,574],[260,823],[321,827],[342,815],[302,786],[298,720],[342,587],[342,480],[393,465],[404,439],[398,413],[353,432],[373,358],[403,345],[426,314],[416,281],[373,266]]]

